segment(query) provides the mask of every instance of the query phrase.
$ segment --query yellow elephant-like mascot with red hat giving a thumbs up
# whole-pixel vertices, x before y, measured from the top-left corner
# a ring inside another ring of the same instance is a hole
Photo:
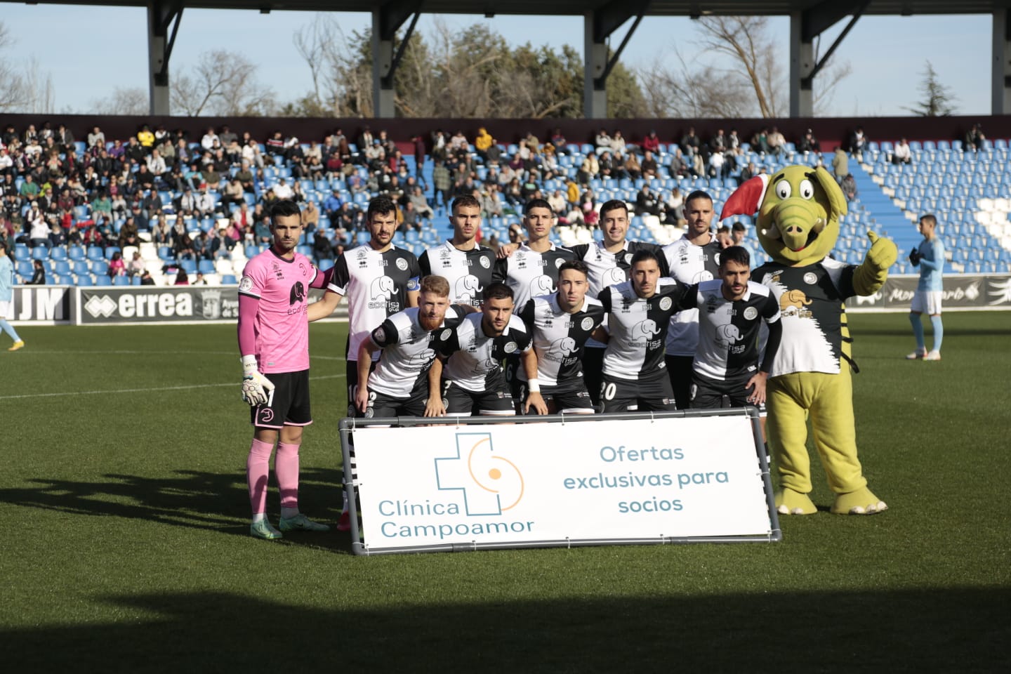
[[[839,236],[846,199],[823,168],[789,166],[759,175],[735,191],[721,214],[758,213],[757,233],[772,259],[751,278],[779,300],[783,343],[766,393],[768,445],[779,473],[782,514],[817,512],[811,493],[807,419],[835,492],[832,512],[870,514],[888,506],[867,488],[856,457],[851,340],[843,302],[877,292],[898,257],[895,244],[868,231],[860,265],[828,258]]]

